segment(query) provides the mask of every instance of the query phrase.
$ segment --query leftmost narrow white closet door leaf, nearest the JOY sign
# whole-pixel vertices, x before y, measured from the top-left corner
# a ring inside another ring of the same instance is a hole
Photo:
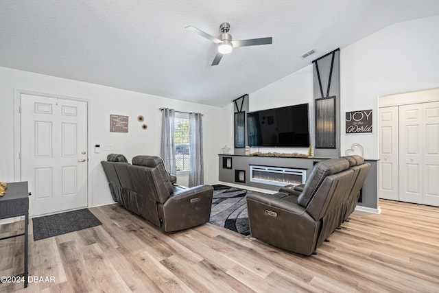
[[[378,196],[399,200],[399,108],[379,108]]]

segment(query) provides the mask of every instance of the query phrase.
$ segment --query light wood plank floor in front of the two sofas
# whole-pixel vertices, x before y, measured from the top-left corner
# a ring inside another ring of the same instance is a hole
[[[165,234],[117,204],[96,207],[102,226],[29,235],[29,274],[55,283],[0,292],[439,292],[439,208],[380,205],[381,215],[355,211],[311,257],[213,224]],[[17,230],[23,222],[3,224],[0,237]],[[0,276],[22,270],[22,246],[0,242]]]

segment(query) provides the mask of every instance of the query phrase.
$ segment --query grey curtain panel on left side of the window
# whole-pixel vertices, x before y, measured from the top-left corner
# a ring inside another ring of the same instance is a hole
[[[176,175],[176,154],[174,145],[175,110],[162,109],[162,141],[160,156],[165,163],[167,172]]]

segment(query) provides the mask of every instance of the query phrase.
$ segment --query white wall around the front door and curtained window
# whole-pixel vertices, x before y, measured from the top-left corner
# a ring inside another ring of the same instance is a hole
[[[4,67],[0,67],[0,181],[20,180],[14,176],[14,160],[17,155],[14,154],[14,117],[17,115],[14,113],[14,95],[17,89],[90,101],[91,141],[88,142],[88,165],[93,205],[112,202],[100,165],[100,161],[106,160],[107,154],[124,154],[128,161],[138,154],[160,154],[161,111],[158,109],[161,107],[204,114],[204,182],[210,184],[218,181],[217,154],[224,147],[224,137],[221,134],[224,109]],[[128,116],[129,132],[110,132],[110,114]],[[147,130],[143,130],[142,123],[137,121],[139,115],[145,117],[143,123],[148,125]],[[93,146],[97,143],[111,144],[113,150],[95,154]],[[187,176],[179,177],[178,183],[187,185]]]

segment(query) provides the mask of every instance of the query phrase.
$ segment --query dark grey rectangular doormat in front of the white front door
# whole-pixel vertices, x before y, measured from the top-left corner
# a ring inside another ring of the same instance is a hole
[[[102,225],[88,209],[33,218],[34,241]]]

